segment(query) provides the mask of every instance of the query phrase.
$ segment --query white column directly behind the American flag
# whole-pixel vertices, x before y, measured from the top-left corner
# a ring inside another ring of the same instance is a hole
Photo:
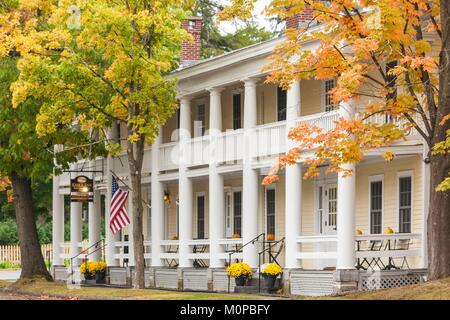
[[[116,124],[113,124],[109,129],[109,139],[117,139],[118,132]],[[106,238],[106,264],[108,267],[119,266],[119,260],[115,258],[116,247],[115,242],[118,241],[119,233],[114,234],[109,227],[109,219],[111,212],[111,197],[112,197],[112,174],[114,170],[114,159],[112,157],[106,158],[106,197],[105,197],[105,238]]]

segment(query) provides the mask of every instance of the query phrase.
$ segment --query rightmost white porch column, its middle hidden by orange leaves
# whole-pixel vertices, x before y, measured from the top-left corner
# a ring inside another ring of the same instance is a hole
[[[339,115],[352,119],[355,112],[350,103],[339,105]],[[355,269],[355,194],[356,172],[354,164],[344,164],[343,169],[353,170],[351,176],[338,173],[337,197],[337,269]]]

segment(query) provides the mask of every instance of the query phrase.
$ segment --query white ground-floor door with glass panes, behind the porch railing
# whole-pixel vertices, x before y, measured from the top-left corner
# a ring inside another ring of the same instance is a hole
[[[317,186],[317,208],[320,235],[335,235],[337,232],[337,185],[335,183]],[[336,242],[320,242],[320,252],[335,252]],[[335,259],[320,259],[316,263],[318,269],[336,266]]]

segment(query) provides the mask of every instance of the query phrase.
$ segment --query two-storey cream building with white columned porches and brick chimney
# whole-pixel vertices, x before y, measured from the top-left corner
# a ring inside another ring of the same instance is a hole
[[[294,18],[288,23],[302,22]],[[334,79],[294,82],[288,91],[266,84],[267,74],[261,70],[283,37],[201,60],[201,20],[192,18],[185,26],[197,36],[183,48],[182,66],[172,75],[179,79],[180,108],[145,151],[146,285],[227,291],[230,258],[255,270],[275,259],[290,294],[326,295],[425,279],[430,173],[417,132],[411,130],[406,141],[389,148],[395,154],[389,163],[382,157],[385,149],[371,150],[350,177],[327,174],[323,167],[320,176],[303,180],[300,161],[265,187],[262,179],[277,156],[295,145],[287,138],[290,128],[308,121],[329,130],[339,117],[358,116],[363,110],[357,104],[364,101],[333,105],[328,92]],[[437,52],[433,34],[426,37]],[[314,50],[318,44],[309,41],[304,49]],[[123,137],[126,131],[117,127],[111,132]],[[54,178],[53,272],[59,280],[71,275],[64,264],[70,269],[75,257],[76,270],[84,257],[78,254],[88,247],[81,242],[83,216],[89,220],[89,244],[100,240],[101,217],[110,206],[110,172],[130,182],[125,153],[80,161],[71,169],[81,167],[103,174],[90,173],[94,203],[71,203],[68,243],[63,236],[64,197],[67,202],[70,176],[76,173]],[[98,260],[103,251],[107,280],[132,285],[131,228],[113,235],[107,214],[105,224],[106,246],[88,258]],[[386,234],[386,228],[393,233]],[[233,285],[231,281],[231,289]]]

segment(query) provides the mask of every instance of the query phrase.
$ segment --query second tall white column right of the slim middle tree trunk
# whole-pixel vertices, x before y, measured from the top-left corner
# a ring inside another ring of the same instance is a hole
[[[192,267],[192,260],[188,258],[188,241],[192,240],[192,180],[187,176],[188,142],[191,138],[191,106],[190,99],[180,100],[180,164],[178,178],[179,192],[179,267]]]

